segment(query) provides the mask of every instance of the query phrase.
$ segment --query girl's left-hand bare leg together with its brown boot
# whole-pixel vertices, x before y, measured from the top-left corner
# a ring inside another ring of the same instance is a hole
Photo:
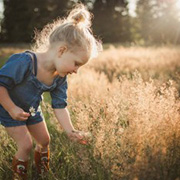
[[[32,149],[32,139],[26,126],[6,128],[8,134],[15,140],[18,151],[13,159],[13,179],[27,179],[28,157]]]

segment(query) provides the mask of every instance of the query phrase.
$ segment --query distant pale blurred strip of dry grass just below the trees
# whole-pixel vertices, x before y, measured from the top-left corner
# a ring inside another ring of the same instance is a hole
[[[145,80],[149,77],[161,82],[173,79],[180,84],[179,57],[179,47],[110,46],[98,59],[91,61],[89,67],[104,72],[110,81],[124,74],[131,77],[132,72],[138,70]]]

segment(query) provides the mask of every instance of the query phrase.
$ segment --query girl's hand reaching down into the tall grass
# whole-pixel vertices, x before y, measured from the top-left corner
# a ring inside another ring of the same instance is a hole
[[[75,141],[84,145],[87,145],[89,143],[89,140],[91,139],[91,134],[89,132],[73,130],[67,135],[72,141]]]

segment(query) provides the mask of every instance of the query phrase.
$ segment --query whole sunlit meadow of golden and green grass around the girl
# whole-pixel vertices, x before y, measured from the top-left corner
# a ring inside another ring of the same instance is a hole
[[[27,47],[26,47],[27,48]],[[0,47],[0,64],[23,47]],[[180,47],[114,47],[68,77],[68,108],[88,145],[71,142],[42,110],[51,136],[48,180],[180,179]],[[0,179],[10,179],[16,145],[0,126]],[[33,152],[29,179],[35,173]]]

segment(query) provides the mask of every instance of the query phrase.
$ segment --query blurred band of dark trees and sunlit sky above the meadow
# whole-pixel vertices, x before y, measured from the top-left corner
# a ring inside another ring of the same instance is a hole
[[[0,0],[0,42],[31,43],[35,29],[77,2],[94,14],[93,31],[104,43],[180,43],[180,0]]]

